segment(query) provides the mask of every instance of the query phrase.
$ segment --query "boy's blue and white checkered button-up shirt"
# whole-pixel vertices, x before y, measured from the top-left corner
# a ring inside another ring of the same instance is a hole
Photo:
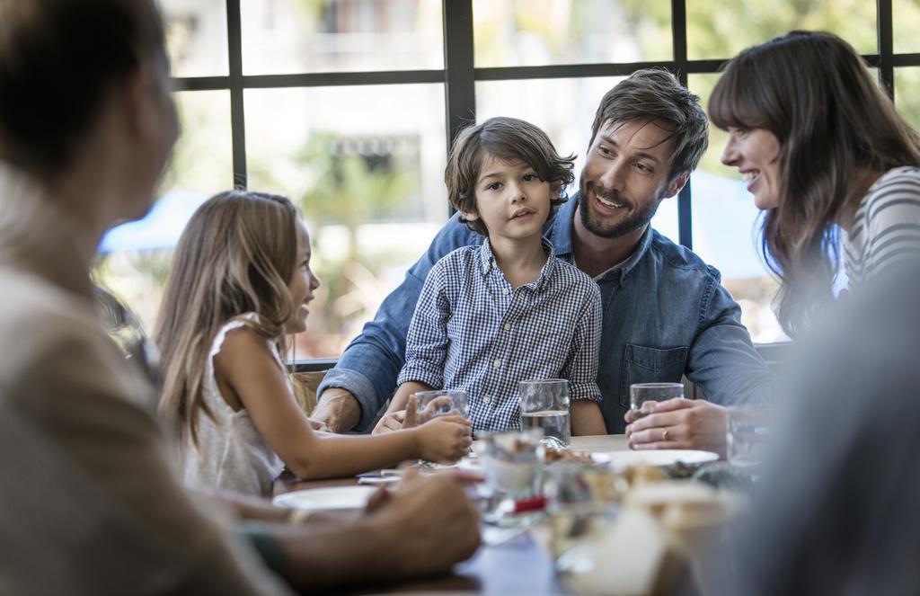
[[[474,430],[519,428],[518,381],[568,379],[573,400],[600,402],[601,293],[553,255],[531,284],[512,287],[489,241],[435,263],[408,328],[397,383],[466,391]]]

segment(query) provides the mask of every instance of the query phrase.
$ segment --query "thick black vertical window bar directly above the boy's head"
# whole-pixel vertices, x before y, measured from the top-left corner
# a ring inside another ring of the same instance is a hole
[[[444,100],[447,150],[468,123],[476,121],[473,64],[473,0],[442,0],[444,30]]]

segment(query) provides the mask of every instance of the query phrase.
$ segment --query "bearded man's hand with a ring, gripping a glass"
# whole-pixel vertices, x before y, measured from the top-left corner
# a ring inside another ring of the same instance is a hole
[[[705,400],[676,398],[642,404],[650,414],[627,412],[627,439],[634,450],[696,449],[725,457],[725,408]]]

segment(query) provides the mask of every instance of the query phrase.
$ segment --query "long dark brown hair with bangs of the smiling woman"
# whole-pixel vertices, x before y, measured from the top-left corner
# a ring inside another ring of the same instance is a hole
[[[855,213],[869,177],[920,165],[920,138],[856,51],[816,31],[791,31],[733,58],[709,98],[709,119],[779,141],[780,200],[765,214],[761,251],[782,284],[776,316],[795,336],[833,298],[837,222]]]

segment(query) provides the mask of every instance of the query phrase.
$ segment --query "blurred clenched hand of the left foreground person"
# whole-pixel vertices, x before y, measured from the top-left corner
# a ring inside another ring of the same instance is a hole
[[[408,471],[388,496],[374,496],[367,515],[389,532],[387,558],[397,576],[444,573],[479,547],[477,509],[466,497],[469,479]]]

